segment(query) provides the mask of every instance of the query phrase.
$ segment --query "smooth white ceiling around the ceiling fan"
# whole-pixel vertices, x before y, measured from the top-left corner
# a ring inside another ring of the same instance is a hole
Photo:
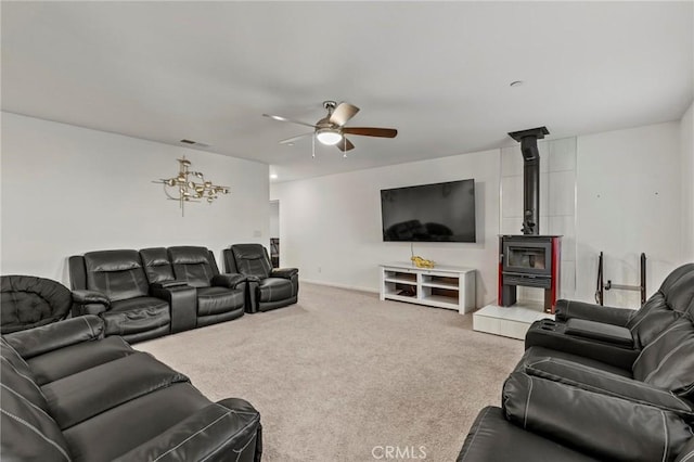
[[[694,2],[2,2],[2,110],[270,164],[278,181],[679,119]],[[523,80],[511,88],[513,80]],[[323,100],[396,139],[334,146]]]

